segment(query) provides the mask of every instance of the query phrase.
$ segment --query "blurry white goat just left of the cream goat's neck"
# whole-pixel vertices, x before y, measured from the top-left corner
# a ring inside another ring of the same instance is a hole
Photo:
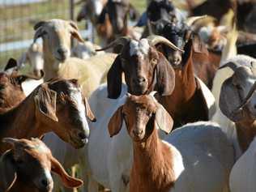
[[[29,46],[28,51],[23,53],[18,60],[19,67],[28,63],[33,70],[34,75],[40,76],[41,70],[44,69],[43,47],[37,42]]]

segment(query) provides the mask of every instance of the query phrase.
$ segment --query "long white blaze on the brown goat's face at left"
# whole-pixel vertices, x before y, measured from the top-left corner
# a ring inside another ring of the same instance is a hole
[[[70,87],[70,97],[77,105],[77,110],[79,113],[79,120],[83,123],[83,130],[85,130],[85,134],[88,137],[90,130],[86,119],[85,105],[83,103],[83,95],[81,87],[77,88],[71,85]]]

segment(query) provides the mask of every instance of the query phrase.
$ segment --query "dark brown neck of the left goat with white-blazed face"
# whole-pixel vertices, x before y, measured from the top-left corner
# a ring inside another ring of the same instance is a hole
[[[0,140],[6,137],[41,138],[45,134],[45,127],[39,129],[40,125],[36,123],[36,106],[33,98],[34,95],[31,94],[20,105],[0,114]],[[9,149],[8,145],[0,143],[0,154],[7,149]]]

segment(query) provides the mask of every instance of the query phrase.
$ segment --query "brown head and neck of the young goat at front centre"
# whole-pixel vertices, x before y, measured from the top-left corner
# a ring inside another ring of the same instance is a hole
[[[161,123],[160,129],[169,133],[173,126],[172,118],[152,96],[130,95],[126,103],[117,109],[111,118],[110,134],[117,134],[120,131],[122,123],[117,120],[123,118],[134,147],[130,192],[169,191],[175,181],[173,152],[159,139],[156,125]]]

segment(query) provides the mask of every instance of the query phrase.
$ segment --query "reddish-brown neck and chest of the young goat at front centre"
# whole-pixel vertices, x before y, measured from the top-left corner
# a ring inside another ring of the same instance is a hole
[[[149,127],[148,127],[149,128]],[[143,143],[133,142],[134,164],[131,169],[130,192],[167,192],[173,187],[173,153],[158,137],[154,127]],[[144,185],[148,183],[149,185]]]

